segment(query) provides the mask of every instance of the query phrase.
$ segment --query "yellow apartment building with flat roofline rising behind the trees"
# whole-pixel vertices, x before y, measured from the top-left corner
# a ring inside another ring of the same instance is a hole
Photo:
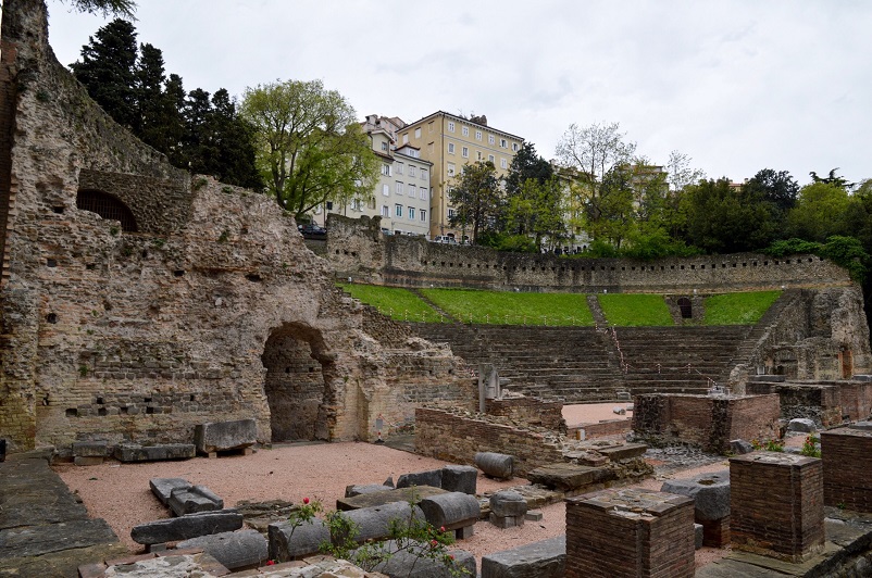
[[[432,163],[429,177],[429,234],[447,235],[460,240],[461,231],[449,225],[454,208],[449,190],[463,165],[477,161],[490,161],[498,176],[504,176],[514,153],[524,139],[487,126],[487,118],[464,118],[447,112],[435,112],[397,130],[398,150],[411,147],[420,159]]]

